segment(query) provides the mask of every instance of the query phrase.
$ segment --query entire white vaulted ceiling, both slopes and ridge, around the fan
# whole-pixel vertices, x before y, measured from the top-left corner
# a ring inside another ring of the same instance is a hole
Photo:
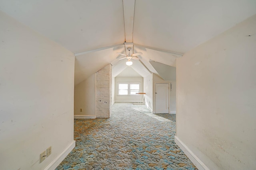
[[[127,47],[143,53],[133,66],[141,75],[156,72],[149,61],[175,67],[177,57],[256,14],[256,0],[0,0],[0,10],[72,51],[78,84],[108,63],[124,70],[116,53]]]

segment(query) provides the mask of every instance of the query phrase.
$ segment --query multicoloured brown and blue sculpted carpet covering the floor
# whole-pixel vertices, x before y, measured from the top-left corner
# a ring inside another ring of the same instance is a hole
[[[56,170],[197,170],[174,143],[175,119],[130,103],[109,119],[75,119],[76,147]]]

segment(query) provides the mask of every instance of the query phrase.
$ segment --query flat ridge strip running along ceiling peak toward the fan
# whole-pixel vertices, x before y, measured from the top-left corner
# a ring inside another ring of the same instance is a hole
[[[132,42],[135,0],[123,0],[125,42]]]

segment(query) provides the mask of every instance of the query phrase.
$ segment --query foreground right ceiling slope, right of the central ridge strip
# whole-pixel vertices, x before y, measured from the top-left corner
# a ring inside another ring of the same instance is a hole
[[[186,53],[256,14],[256,0],[137,0],[133,42]]]

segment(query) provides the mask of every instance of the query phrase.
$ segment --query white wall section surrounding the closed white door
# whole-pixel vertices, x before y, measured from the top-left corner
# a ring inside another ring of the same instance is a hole
[[[173,77],[174,80],[163,80],[160,78],[158,75],[153,73],[153,103],[155,103],[155,83],[170,83],[172,84],[172,89],[170,86],[170,100],[169,100],[169,105],[170,105],[170,113],[175,114],[176,113],[176,77]],[[172,79],[172,78],[171,78]],[[153,113],[155,113],[155,105],[153,104]]]

